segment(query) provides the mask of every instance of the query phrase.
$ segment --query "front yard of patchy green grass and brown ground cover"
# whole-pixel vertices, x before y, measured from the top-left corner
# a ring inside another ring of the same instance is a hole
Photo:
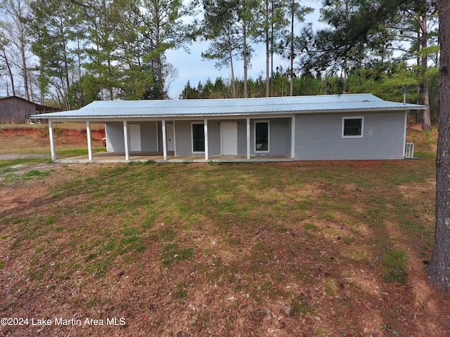
[[[449,336],[433,166],[24,164],[0,175],[0,316],[28,322],[0,334]]]

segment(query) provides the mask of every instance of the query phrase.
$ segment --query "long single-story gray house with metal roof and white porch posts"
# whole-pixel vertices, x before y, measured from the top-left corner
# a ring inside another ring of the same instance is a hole
[[[403,159],[407,112],[424,108],[368,93],[114,100],[49,113],[46,119],[53,161],[55,122],[86,123],[88,162]],[[93,154],[92,123],[105,124],[107,152]]]

